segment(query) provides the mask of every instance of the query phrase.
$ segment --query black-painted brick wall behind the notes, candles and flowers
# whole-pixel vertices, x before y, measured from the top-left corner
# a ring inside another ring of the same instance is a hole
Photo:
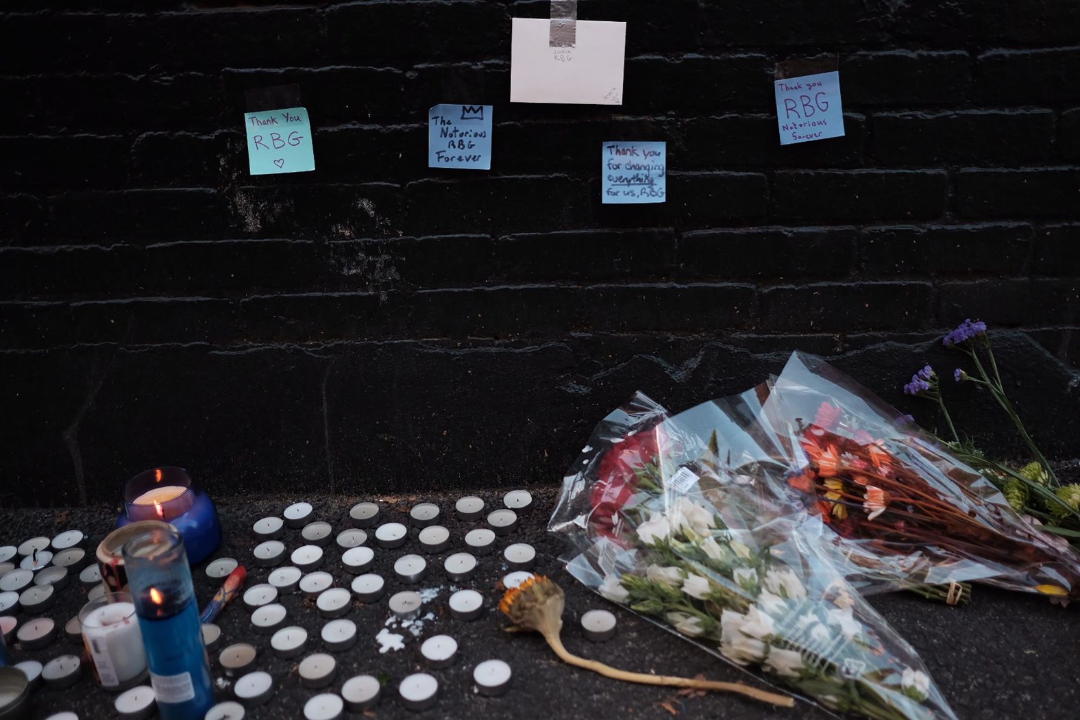
[[[617,108],[507,101],[546,2],[42,4],[0,15],[0,502],[552,483],[632,391],[795,348],[933,424],[899,386],[967,316],[1080,456],[1080,3],[586,0]],[[833,55],[847,136],[780,147],[775,64]],[[244,91],[293,82],[318,169],[251,177]],[[446,101],[496,106],[490,173],[426,167]],[[611,139],[667,141],[666,204],[599,203]]]

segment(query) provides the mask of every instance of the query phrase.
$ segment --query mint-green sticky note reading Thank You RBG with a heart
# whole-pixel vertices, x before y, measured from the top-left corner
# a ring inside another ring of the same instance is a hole
[[[306,108],[282,108],[244,114],[252,175],[306,173],[315,169],[311,122]]]

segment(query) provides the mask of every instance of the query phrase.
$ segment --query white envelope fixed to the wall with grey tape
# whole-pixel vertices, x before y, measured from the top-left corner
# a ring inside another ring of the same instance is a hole
[[[578,21],[575,47],[549,44],[551,21],[513,18],[511,103],[622,105],[626,24]]]

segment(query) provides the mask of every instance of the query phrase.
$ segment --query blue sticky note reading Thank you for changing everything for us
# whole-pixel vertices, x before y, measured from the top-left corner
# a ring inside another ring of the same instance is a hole
[[[667,194],[667,144],[620,140],[603,145],[605,203],[662,203]]]

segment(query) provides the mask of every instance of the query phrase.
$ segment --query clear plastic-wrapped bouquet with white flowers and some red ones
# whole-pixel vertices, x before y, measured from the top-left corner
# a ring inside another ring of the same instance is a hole
[[[835,569],[805,514],[759,521],[753,485],[680,462],[696,440],[644,395],[609,415],[549,529],[568,571],[698,647],[841,712],[955,718],[915,651]],[[725,488],[713,504],[707,489]],[[703,490],[704,489],[704,490]]]

